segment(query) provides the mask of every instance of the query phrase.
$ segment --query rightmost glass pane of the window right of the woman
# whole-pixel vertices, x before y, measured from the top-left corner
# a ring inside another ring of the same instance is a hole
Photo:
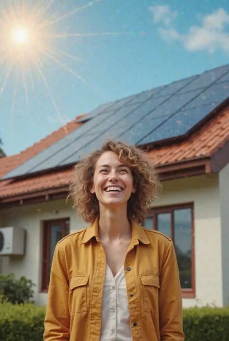
[[[174,210],[174,246],[181,287],[192,287],[192,215],[190,208]]]

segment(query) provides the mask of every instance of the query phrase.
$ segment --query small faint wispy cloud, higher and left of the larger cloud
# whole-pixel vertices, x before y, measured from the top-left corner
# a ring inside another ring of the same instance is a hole
[[[169,5],[150,6],[149,10],[153,13],[155,24],[163,23],[164,25],[170,25],[172,20],[178,15],[177,11],[171,11]]]

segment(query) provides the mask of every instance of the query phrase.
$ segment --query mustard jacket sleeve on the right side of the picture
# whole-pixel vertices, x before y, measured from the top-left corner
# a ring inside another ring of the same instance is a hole
[[[167,245],[162,260],[159,321],[161,341],[184,341],[181,286],[172,241]]]

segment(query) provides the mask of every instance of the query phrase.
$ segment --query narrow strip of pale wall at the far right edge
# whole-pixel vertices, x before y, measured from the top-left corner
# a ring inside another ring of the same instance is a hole
[[[229,304],[229,164],[219,173],[221,216],[223,303]]]

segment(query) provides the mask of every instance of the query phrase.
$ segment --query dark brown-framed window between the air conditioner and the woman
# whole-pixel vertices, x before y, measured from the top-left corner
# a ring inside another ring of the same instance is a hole
[[[48,289],[53,254],[57,242],[69,235],[69,219],[43,222],[42,291]]]

